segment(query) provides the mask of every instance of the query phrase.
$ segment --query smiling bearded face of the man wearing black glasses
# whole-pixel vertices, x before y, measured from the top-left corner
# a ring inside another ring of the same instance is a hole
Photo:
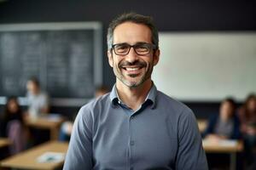
[[[113,44],[135,45],[142,42],[152,44],[151,31],[148,26],[125,22],[113,31]],[[153,67],[159,60],[159,54],[158,49],[156,51],[152,49],[149,54],[145,55],[138,55],[134,48],[131,48],[129,54],[126,55],[117,55],[112,50],[108,51],[108,62],[113,67],[117,81],[135,88],[151,78]]]

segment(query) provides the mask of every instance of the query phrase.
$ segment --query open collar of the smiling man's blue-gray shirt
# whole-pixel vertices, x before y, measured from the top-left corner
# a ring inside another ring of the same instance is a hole
[[[151,109],[154,109],[156,104],[156,94],[157,94],[157,88],[154,85],[154,82],[152,83],[152,87],[150,88],[148,95],[143,103],[144,104],[150,104]],[[119,95],[117,94],[116,84],[113,85],[113,88],[110,92],[110,99],[112,102],[112,105],[118,105],[121,103],[121,100],[119,99]]]

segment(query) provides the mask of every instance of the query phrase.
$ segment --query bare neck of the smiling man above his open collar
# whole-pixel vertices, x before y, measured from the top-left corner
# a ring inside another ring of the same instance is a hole
[[[123,82],[117,81],[116,83],[119,98],[133,111],[137,111],[140,105],[143,104],[143,102],[147,98],[151,86],[152,82],[150,79],[143,82],[143,84],[136,88],[127,87]]]

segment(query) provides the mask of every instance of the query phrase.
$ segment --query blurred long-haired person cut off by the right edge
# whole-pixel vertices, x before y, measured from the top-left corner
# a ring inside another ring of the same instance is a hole
[[[253,149],[256,148],[256,95],[249,94],[246,102],[239,112],[241,120],[241,133],[244,139],[244,149],[247,163],[250,165],[256,161]]]

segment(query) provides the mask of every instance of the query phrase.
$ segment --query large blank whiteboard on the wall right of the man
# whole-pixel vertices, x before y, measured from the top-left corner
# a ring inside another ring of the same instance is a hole
[[[176,99],[243,100],[256,92],[256,32],[161,32],[152,79]]]

